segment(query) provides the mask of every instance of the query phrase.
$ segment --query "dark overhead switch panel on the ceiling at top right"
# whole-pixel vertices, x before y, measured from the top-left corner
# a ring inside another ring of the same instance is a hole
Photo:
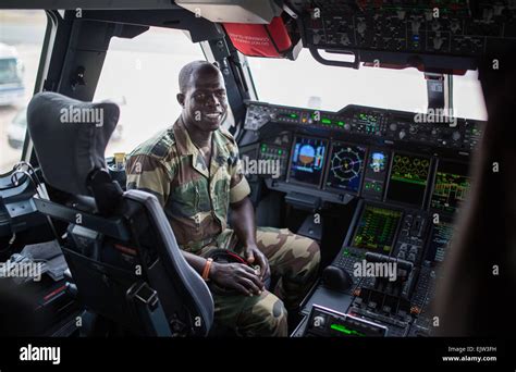
[[[516,8],[509,0],[291,3],[302,15],[305,47],[353,52],[359,61],[475,70],[476,57],[501,44],[516,45]]]

